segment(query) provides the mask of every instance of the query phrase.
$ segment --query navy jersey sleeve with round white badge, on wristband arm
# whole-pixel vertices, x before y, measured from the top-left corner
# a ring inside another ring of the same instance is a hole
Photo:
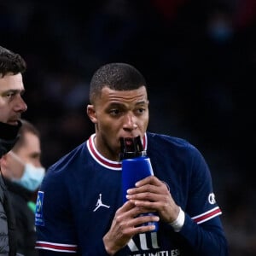
[[[212,177],[206,160],[192,148],[191,183],[185,221],[180,234],[195,248],[198,255],[228,255],[227,241],[212,190]]]

